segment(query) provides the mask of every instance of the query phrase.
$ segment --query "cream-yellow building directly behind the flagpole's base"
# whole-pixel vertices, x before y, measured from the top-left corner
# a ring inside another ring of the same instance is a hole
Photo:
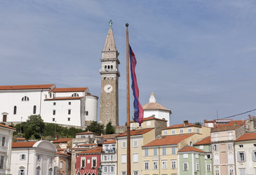
[[[130,132],[131,141],[131,173],[138,175],[142,174],[143,167],[143,152],[141,147],[155,139],[154,128],[140,129]],[[117,160],[118,160],[118,172],[117,174],[127,174],[127,132],[121,133],[116,136],[117,142]]]

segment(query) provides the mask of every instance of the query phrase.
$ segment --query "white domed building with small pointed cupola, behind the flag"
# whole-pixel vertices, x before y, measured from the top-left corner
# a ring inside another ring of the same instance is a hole
[[[157,103],[154,93],[151,93],[148,104],[143,106],[144,117],[154,116],[158,119],[167,120],[167,126],[170,126],[170,114],[172,113],[170,109],[165,108],[161,104]]]

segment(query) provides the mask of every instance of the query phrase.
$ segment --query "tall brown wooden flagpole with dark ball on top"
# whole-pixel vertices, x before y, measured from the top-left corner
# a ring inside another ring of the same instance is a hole
[[[128,26],[129,24],[126,23],[127,26],[127,175],[131,175],[131,136],[130,136],[130,125],[129,125],[129,33],[128,33]]]

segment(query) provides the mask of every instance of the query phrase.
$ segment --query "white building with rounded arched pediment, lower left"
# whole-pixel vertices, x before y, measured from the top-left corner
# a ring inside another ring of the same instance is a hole
[[[31,145],[29,142],[13,143],[11,174],[53,175],[56,151],[56,147],[46,140],[33,141]]]

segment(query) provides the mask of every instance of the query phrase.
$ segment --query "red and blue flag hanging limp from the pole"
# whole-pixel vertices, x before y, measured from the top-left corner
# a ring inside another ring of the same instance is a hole
[[[133,120],[137,123],[143,123],[143,108],[139,101],[139,88],[137,84],[137,78],[135,74],[136,58],[134,52],[132,52],[132,47],[129,45],[129,61],[131,67],[131,77],[132,77],[132,91],[134,96],[133,107],[134,107],[134,117]]]

